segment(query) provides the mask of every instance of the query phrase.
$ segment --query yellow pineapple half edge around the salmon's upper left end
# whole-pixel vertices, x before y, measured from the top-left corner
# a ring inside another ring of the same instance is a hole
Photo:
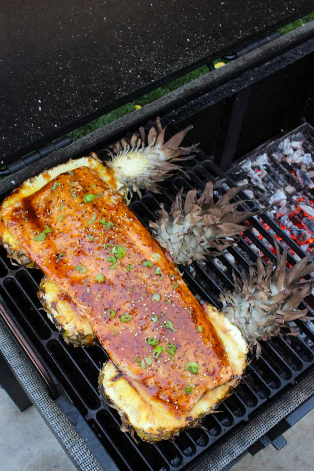
[[[0,244],[8,252],[8,257],[16,261],[19,265],[24,265],[27,268],[37,268],[37,265],[29,259],[23,252],[19,250],[17,241],[8,232],[5,224],[2,222],[2,211],[9,206],[21,201],[27,196],[33,195],[36,191],[40,190],[43,186],[55,179],[61,173],[72,171],[80,167],[89,167],[95,171],[100,179],[106,182],[110,187],[117,188],[116,180],[113,177],[113,171],[106,167],[95,153],[91,153],[89,157],[81,157],[76,160],[69,160],[68,162],[61,163],[50,170],[41,172],[36,177],[31,177],[20,186],[15,188],[10,195],[8,195],[0,204]]]

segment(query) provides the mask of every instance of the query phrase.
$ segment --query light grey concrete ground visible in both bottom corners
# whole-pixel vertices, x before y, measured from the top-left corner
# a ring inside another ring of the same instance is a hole
[[[35,407],[20,412],[0,389],[0,471],[74,471],[76,468]],[[314,410],[284,437],[281,451],[269,446],[245,456],[232,471],[309,471],[313,469]],[[137,470],[136,470],[137,471]]]

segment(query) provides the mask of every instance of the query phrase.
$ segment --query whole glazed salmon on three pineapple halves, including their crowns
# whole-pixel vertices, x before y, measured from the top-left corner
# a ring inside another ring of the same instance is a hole
[[[307,259],[286,272],[286,252],[273,270],[234,277],[223,311],[200,306],[177,271],[223,250],[245,230],[251,213],[229,203],[240,188],[214,204],[208,183],[176,198],[151,223],[159,243],[123,202],[178,169],[174,160],[189,128],[164,144],[164,130],[122,140],[104,165],[95,154],[27,180],[2,203],[0,237],[8,256],[41,268],[39,298],[66,342],[101,344],[110,359],[99,388],[121,416],[122,430],[147,441],[169,439],[196,426],[228,397],[247,366],[248,347],[278,335],[311,290],[298,281],[314,270]],[[169,173],[170,172],[170,173]],[[162,248],[164,247],[164,249]]]

